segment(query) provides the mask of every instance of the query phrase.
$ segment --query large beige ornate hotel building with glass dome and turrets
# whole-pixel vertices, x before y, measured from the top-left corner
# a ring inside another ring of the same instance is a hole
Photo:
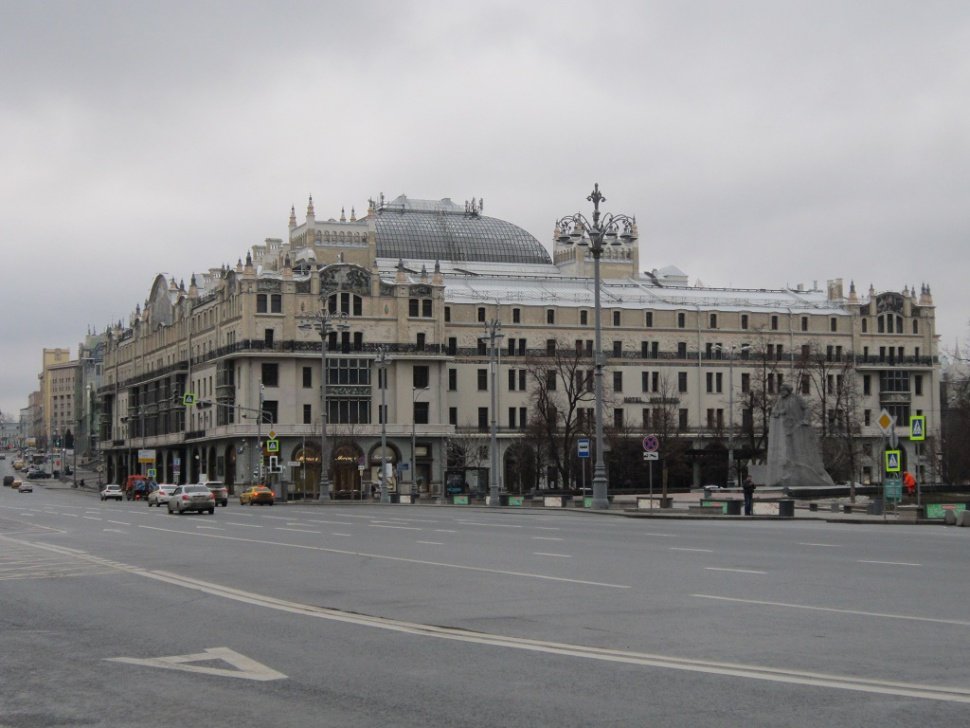
[[[187,287],[158,275],[105,336],[97,442],[109,481],[144,468],[142,450],[160,481],[239,487],[266,477],[272,454],[275,487],[296,497],[317,494],[321,462],[334,497],[359,497],[382,459],[391,489],[442,495],[482,482],[494,418],[505,488],[579,484],[578,463],[557,469],[549,450],[591,427],[592,258],[561,237],[550,256],[476,200],[382,196],[360,218],[318,220],[311,198],[285,240],[234,267]],[[883,409],[900,425],[939,412],[926,285],[706,288],[639,267],[634,228],[601,259],[611,488],[645,477],[616,459],[619,443],[660,430],[685,458],[677,484],[725,475],[725,446],[757,457],[783,383],[813,398],[823,435],[846,435],[846,477],[863,482],[882,477]],[[932,441],[932,416],[928,430]],[[561,460],[574,460],[569,447]],[[932,458],[917,466],[932,477]]]

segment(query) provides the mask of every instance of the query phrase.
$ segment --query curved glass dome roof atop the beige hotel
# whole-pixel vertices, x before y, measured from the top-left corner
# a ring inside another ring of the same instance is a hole
[[[410,200],[404,195],[374,213],[381,258],[550,263],[548,251],[522,228],[462,209],[449,199]]]

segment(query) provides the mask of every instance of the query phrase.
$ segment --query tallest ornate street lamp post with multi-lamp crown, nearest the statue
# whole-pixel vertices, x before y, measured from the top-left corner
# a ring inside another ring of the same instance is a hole
[[[595,328],[593,383],[596,399],[596,461],[593,466],[593,501],[591,506],[597,509],[605,509],[610,507],[610,501],[606,495],[606,466],[603,463],[603,346],[601,343],[602,323],[600,321],[600,257],[607,245],[624,245],[637,239],[636,218],[629,215],[607,213],[600,221],[600,202],[605,202],[606,198],[600,192],[598,182],[593,185],[593,191],[586,199],[593,203],[592,222],[581,212],[567,215],[556,223],[556,229],[559,231],[556,240],[562,245],[589,247],[589,251],[593,255],[593,323]]]

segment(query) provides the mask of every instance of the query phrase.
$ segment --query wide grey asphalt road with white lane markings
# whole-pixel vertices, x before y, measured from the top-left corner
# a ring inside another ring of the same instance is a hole
[[[9,472],[0,463],[0,472]],[[0,491],[0,728],[915,726],[970,529]]]

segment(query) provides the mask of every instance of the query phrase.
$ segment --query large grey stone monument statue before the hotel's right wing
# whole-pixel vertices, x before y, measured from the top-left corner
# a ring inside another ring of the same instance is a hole
[[[771,408],[765,481],[765,485],[781,487],[834,485],[822,466],[809,409],[787,384],[781,386]]]

